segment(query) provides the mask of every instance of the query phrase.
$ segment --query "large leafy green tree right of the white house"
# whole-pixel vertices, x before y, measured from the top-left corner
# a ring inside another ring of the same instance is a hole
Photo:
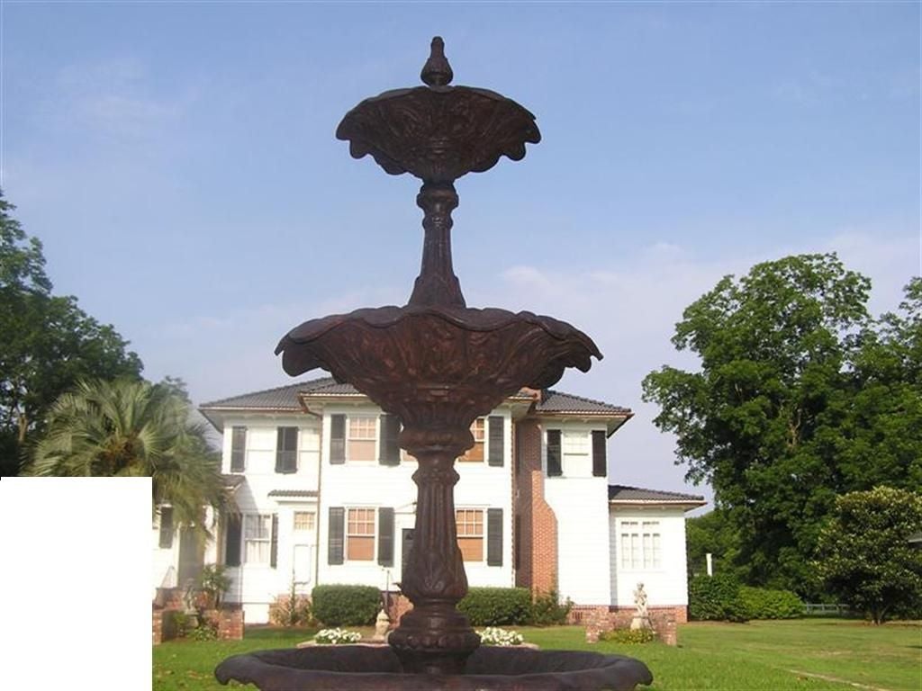
[[[677,463],[712,484],[738,529],[737,562],[753,584],[816,593],[810,557],[836,496],[922,479],[922,389],[906,379],[919,363],[918,282],[902,313],[878,321],[869,287],[834,254],[726,276],[672,339],[700,369],[644,379]]]

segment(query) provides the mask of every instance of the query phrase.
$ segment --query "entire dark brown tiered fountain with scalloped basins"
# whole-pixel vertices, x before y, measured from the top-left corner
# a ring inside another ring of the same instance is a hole
[[[371,154],[392,175],[422,180],[422,267],[404,307],[355,310],[304,322],[276,349],[291,376],[314,368],[349,382],[403,425],[399,444],[419,462],[416,528],[401,590],[413,609],[389,646],[321,646],[236,655],[219,681],[262,691],[361,689],[632,689],[653,677],[643,662],[595,652],[479,647],[455,608],[467,576],[455,533],[455,458],[470,426],[522,387],[543,389],[563,370],[601,358],[570,324],[531,312],[468,308],[452,267],[455,180],[520,160],[540,141],[535,116],[498,93],[453,87],[441,38],[422,69],[426,86],[363,100],[337,128],[354,158]]]

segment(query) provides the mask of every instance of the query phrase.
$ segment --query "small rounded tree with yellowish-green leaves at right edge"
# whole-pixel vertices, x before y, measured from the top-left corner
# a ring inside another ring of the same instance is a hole
[[[908,538],[922,531],[922,494],[879,486],[835,501],[820,536],[817,568],[839,597],[881,624],[922,603],[922,550]]]

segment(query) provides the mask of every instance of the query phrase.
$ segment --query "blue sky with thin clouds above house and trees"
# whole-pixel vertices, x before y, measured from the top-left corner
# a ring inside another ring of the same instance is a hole
[[[456,183],[468,304],[573,322],[559,388],[628,405],[612,478],[682,490],[640,381],[721,275],[839,252],[895,307],[920,269],[917,3],[3,3],[2,185],[59,293],[196,402],[288,380],[301,321],[403,304],[419,183],[349,157],[360,100],[455,84],[538,117]],[[699,488],[695,491],[701,491]]]

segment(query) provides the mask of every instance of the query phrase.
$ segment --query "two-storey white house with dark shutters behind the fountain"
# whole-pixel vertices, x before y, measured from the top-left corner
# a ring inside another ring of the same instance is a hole
[[[200,406],[222,433],[239,517],[203,549],[154,526],[154,585],[182,585],[198,563],[227,565],[247,622],[314,585],[398,583],[412,544],[416,461],[399,421],[349,384],[326,378]],[[471,586],[521,586],[581,606],[686,614],[684,513],[703,498],[610,486],[608,439],[632,413],[567,393],[523,390],[472,432],[455,467],[458,545]],[[166,514],[169,521],[169,512]],[[183,544],[185,549],[183,551]]]

